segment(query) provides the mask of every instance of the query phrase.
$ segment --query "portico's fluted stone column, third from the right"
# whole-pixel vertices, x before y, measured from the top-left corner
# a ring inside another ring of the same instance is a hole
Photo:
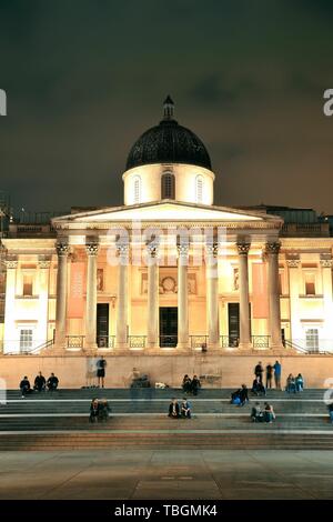
[[[214,349],[220,348],[218,244],[208,244],[205,251],[208,345]]]

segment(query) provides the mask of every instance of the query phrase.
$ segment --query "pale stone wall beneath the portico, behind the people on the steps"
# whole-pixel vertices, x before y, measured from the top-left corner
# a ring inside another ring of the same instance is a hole
[[[165,382],[171,387],[181,384],[184,373],[191,377],[213,375],[211,382],[203,381],[205,387],[235,388],[253,380],[253,368],[258,361],[263,365],[274,363],[276,355],[108,355],[105,357],[108,388],[128,387],[133,367],[141,373],[147,373],[154,382]],[[301,372],[309,388],[325,388],[325,380],[333,379],[333,355],[284,355],[282,362],[282,382],[289,373]],[[38,371],[46,377],[54,372],[61,388],[81,388],[87,385],[94,375],[97,358],[83,355],[39,357],[39,355],[3,355],[0,357],[0,378],[4,379],[7,388],[16,389],[23,375],[32,382]]]

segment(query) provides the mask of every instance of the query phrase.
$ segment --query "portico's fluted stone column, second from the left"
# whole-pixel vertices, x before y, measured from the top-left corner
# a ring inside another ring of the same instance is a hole
[[[87,263],[87,301],[85,301],[85,341],[84,348],[97,348],[97,242],[85,244]]]

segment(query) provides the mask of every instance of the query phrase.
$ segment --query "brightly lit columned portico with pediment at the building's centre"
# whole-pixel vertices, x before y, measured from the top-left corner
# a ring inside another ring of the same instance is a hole
[[[218,207],[202,207],[202,210],[204,220],[198,205],[194,209],[189,203],[161,201],[153,208],[143,204],[103,209],[54,220],[59,235],[56,324],[60,325],[61,333],[56,337],[56,348],[97,350],[100,347],[120,353],[131,350],[155,353],[167,348],[174,353],[183,353],[206,345],[211,352],[230,348],[252,350],[253,338],[256,344],[262,340],[262,348],[281,348],[281,333],[279,338],[276,328],[281,322],[280,308],[274,300],[272,305],[270,301],[276,291],[279,264],[273,253],[265,253],[279,249],[281,220]],[[167,211],[169,220],[161,221],[160,215]],[[131,219],[131,212],[137,221]],[[186,213],[188,221],[178,220],[180,213]],[[122,219],[123,214],[125,219]],[[144,220],[140,220],[141,215]],[[138,219],[142,228],[140,241]],[[152,229],[153,223],[161,224],[159,238],[157,227]],[[125,240],[123,237],[120,239],[120,230],[127,231]],[[261,321],[265,323],[264,328],[250,317],[255,289],[250,290],[249,258],[251,267],[261,263],[269,274],[270,284],[265,291],[270,309],[266,319]],[[71,299],[71,272],[77,259],[84,263],[85,278],[81,293],[85,313],[81,318],[80,335],[75,334],[78,318],[63,315],[68,310],[68,299]],[[236,288],[231,270],[239,271]],[[100,288],[98,272],[103,279]],[[64,288],[69,291],[64,292]],[[225,304],[230,301],[239,303],[236,339],[229,339],[228,318],[223,320],[228,314]],[[113,310],[109,339],[102,347],[97,335],[99,302],[109,302]],[[176,308],[178,314],[176,334],[174,330],[163,333],[170,337],[167,347],[159,324],[163,307]]]

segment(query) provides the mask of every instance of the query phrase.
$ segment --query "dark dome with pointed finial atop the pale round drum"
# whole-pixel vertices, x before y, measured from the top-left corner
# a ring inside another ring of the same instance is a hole
[[[204,144],[173,119],[173,101],[168,97],[163,120],[135,141],[128,157],[127,170],[153,163],[193,164],[212,170]]]

